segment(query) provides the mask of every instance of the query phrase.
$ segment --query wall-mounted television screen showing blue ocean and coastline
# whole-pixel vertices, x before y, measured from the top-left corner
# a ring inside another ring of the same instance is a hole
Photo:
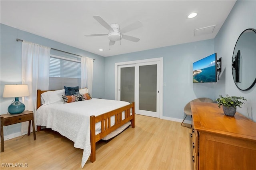
[[[217,82],[217,54],[193,63],[193,83]]]

